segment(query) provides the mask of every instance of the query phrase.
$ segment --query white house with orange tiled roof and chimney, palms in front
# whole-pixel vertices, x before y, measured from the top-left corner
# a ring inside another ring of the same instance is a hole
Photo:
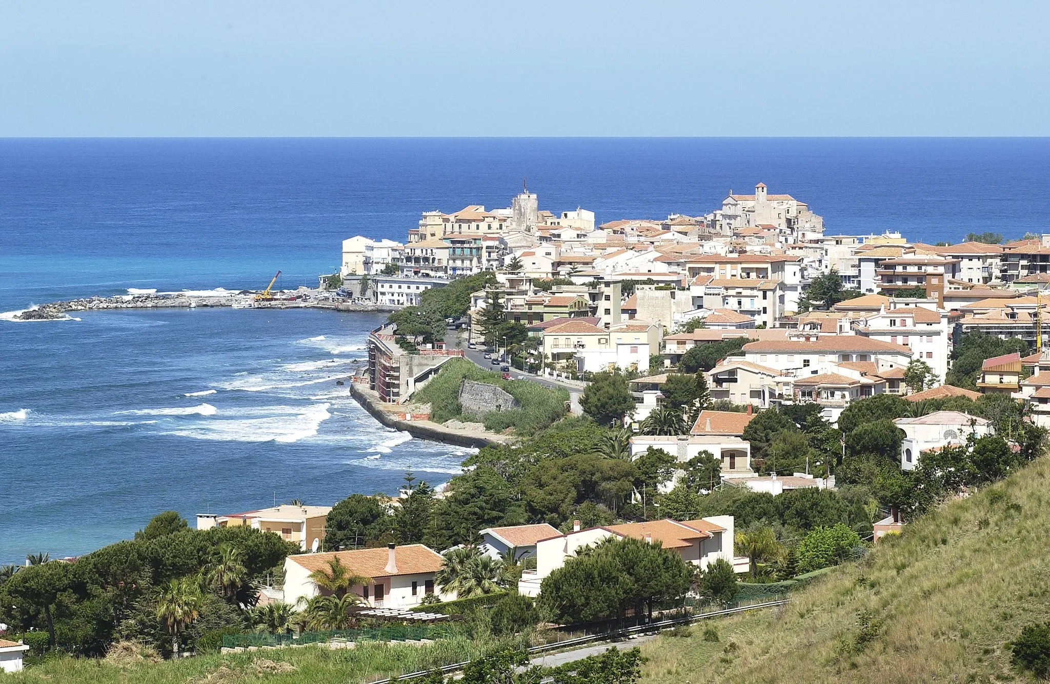
[[[354,585],[350,590],[373,607],[412,607],[441,588],[434,583],[441,569],[441,554],[423,544],[390,544],[386,548],[289,556],[285,559],[285,601],[294,605],[299,599],[310,600],[321,594],[310,574],[324,571],[332,558],[338,558],[351,573],[371,579],[368,584]],[[443,601],[456,598],[455,593],[440,592],[439,596]]]

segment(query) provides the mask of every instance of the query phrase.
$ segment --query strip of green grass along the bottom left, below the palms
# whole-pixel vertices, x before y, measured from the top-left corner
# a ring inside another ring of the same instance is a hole
[[[69,684],[314,684],[369,682],[390,675],[418,671],[442,664],[462,662],[475,654],[466,637],[438,641],[425,646],[361,644],[351,649],[321,646],[262,648],[227,656],[198,656],[177,661],[116,664],[101,659],[49,658],[17,675],[4,677],[4,684],[38,682]],[[261,661],[287,663],[294,669],[268,666]],[[261,666],[261,667],[260,667]],[[261,675],[259,673],[261,669]]]

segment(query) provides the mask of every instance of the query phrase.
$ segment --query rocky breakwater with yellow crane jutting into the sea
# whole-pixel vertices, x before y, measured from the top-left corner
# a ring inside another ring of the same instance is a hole
[[[110,309],[193,309],[231,307],[236,309],[331,309],[348,313],[388,312],[396,307],[345,302],[338,299],[271,299],[256,302],[255,292],[240,291],[223,294],[188,294],[184,292],[163,294],[119,294],[109,297],[93,296],[66,302],[42,304],[13,317],[16,320],[63,320],[70,313],[79,311],[103,311]]]

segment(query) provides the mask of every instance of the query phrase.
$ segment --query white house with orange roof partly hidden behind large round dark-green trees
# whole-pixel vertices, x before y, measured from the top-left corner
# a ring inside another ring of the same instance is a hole
[[[525,596],[538,596],[543,579],[562,567],[569,558],[574,558],[580,548],[591,547],[604,539],[633,537],[648,542],[660,542],[681,556],[687,563],[707,567],[718,558],[726,559],[734,567],[733,516],[712,516],[699,520],[651,520],[621,525],[602,525],[580,528],[574,521],[572,532],[541,539],[537,542],[537,564],[534,571],[526,571],[518,584],[518,590]]]

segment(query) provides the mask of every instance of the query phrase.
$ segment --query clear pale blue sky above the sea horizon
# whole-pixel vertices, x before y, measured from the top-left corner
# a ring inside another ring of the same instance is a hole
[[[0,0],[0,137],[1048,136],[1050,2]]]

